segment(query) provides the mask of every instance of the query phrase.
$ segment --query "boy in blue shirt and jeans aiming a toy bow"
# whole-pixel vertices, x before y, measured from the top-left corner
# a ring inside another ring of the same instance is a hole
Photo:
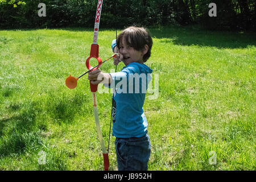
[[[144,28],[126,28],[118,35],[117,43],[112,42],[113,51],[118,52],[114,64],[125,64],[121,72],[103,73],[96,69],[88,74],[92,84],[104,83],[117,89],[112,121],[118,170],[147,170],[151,147],[143,104],[152,69],[144,63],[151,55],[151,47],[152,38]]]

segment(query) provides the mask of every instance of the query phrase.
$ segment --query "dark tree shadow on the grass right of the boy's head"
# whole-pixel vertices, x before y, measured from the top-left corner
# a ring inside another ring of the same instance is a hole
[[[209,46],[217,48],[247,48],[256,46],[256,34],[209,31],[196,27],[166,27],[150,29],[152,38],[180,46]]]

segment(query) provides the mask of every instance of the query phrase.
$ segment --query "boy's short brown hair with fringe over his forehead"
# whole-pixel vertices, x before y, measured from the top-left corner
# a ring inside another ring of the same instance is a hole
[[[118,35],[117,38],[117,47],[120,48],[120,43],[122,39],[125,38],[125,41],[128,46],[133,47],[136,51],[142,51],[144,46],[148,46],[147,53],[143,56],[143,61],[146,62],[151,55],[152,48],[152,38],[148,31],[143,27],[128,27]],[[130,41],[129,41],[130,38]]]

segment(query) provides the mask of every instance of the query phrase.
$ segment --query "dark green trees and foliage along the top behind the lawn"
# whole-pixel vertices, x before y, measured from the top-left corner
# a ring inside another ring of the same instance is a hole
[[[0,0],[0,28],[93,27],[97,0],[45,0],[46,17],[38,16],[39,0]],[[209,3],[217,17],[209,17]],[[203,24],[219,30],[256,30],[255,1],[248,0],[109,0],[104,1],[101,27]]]

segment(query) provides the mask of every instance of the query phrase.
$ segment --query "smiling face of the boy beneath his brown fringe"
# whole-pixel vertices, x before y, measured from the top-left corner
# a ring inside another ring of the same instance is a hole
[[[128,65],[130,63],[143,64],[143,55],[145,54],[145,51],[137,51],[133,47],[128,46],[125,38],[122,38],[122,42],[120,43],[118,51],[123,56],[122,60],[125,65]]]

